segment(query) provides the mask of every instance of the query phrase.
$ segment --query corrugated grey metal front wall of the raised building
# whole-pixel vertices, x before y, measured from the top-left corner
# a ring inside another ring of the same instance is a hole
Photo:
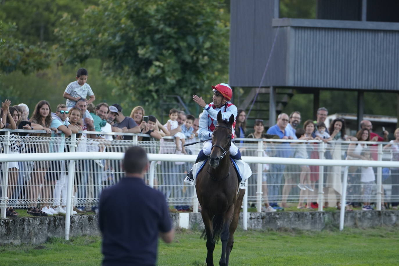
[[[288,86],[399,90],[399,31],[290,27]]]

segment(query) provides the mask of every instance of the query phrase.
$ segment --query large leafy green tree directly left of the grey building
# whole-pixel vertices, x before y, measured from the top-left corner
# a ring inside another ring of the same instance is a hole
[[[165,95],[186,101],[227,82],[228,25],[215,0],[102,0],[79,22],[56,29],[67,63],[100,58],[114,93],[157,108]]]

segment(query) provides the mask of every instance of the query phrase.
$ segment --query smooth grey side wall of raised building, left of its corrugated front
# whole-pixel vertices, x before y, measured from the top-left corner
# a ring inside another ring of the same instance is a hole
[[[277,30],[272,27],[274,4],[273,0],[231,1],[231,86],[259,86]],[[263,86],[283,84],[285,80],[286,29],[279,31],[279,39]]]

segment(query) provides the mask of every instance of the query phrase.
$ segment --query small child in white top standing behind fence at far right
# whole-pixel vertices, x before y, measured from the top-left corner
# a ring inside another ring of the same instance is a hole
[[[371,152],[369,148],[363,149],[361,155],[363,155],[367,160],[373,160],[371,158]],[[375,185],[375,174],[373,167],[365,166],[361,167],[361,184],[363,185],[363,211],[371,211],[373,208],[370,206],[371,201],[371,190]]]

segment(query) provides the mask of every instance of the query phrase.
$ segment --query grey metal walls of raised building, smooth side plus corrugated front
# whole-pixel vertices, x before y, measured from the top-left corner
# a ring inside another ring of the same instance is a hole
[[[272,27],[276,4],[231,0],[231,86],[399,90],[399,23],[390,24],[389,30],[371,30],[359,29],[363,22],[337,20],[303,20],[302,25],[280,27],[260,84],[277,31]],[[321,22],[329,26],[320,26]],[[376,29],[381,25],[364,23]]]

